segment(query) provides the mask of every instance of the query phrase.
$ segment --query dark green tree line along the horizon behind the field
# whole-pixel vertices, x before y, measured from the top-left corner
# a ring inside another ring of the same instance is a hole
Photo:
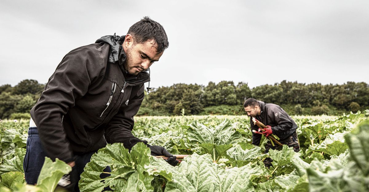
[[[44,86],[33,79],[25,79],[14,87],[1,85],[0,118],[28,118]],[[278,104],[291,114],[336,115],[368,109],[369,85],[282,81],[251,89],[247,83],[233,81],[209,82],[206,86],[177,83],[146,93],[138,115],[245,114],[242,105],[249,97]]]

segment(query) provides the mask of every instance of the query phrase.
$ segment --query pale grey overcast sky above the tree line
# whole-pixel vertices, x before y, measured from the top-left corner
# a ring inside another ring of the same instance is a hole
[[[169,40],[151,87],[369,83],[368,0],[1,0],[0,85],[46,83],[70,50],[125,35],[144,16]]]

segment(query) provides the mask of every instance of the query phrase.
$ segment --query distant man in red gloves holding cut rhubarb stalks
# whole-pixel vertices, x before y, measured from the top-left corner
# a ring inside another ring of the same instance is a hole
[[[293,147],[295,152],[299,152],[300,145],[297,139],[297,125],[293,119],[284,111],[280,106],[272,103],[264,103],[254,98],[246,99],[244,108],[247,115],[250,117],[251,130],[258,131],[259,127],[254,125],[252,118],[256,118],[268,128],[265,128],[263,132],[266,136],[274,134],[279,137],[279,142]],[[252,144],[259,145],[262,135],[252,133]],[[269,152],[269,149],[280,149],[279,145],[272,143],[268,140],[265,145],[265,153]],[[272,166],[272,160],[266,158],[264,164],[266,167]]]

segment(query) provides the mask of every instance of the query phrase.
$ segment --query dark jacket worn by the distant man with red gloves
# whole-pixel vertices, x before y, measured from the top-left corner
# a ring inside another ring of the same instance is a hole
[[[258,102],[261,114],[255,118],[264,125],[270,125],[273,134],[277,135],[280,140],[288,138],[296,131],[296,123],[280,106],[273,103]],[[250,117],[250,124],[252,130],[258,130],[259,127],[254,125],[252,117]],[[260,134],[252,133],[252,144],[259,145],[261,136]]]

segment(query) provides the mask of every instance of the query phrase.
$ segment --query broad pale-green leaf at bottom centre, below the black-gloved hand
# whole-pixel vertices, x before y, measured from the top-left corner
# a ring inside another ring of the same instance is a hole
[[[165,191],[253,191],[252,181],[263,174],[258,166],[219,167],[213,163],[210,154],[186,157],[178,168],[165,164],[163,160],[154,159],[146,166],[151,175],[158,174],[168,179]]]

